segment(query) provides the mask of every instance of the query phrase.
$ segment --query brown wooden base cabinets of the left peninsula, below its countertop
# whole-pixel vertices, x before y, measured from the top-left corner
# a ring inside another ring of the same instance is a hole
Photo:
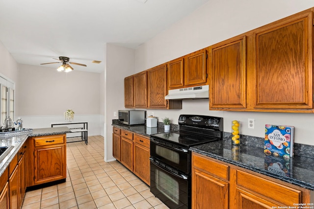
[[[66,179],[66,135],[29,137],[0,176],[0,209],[20,209],[26,187]]]

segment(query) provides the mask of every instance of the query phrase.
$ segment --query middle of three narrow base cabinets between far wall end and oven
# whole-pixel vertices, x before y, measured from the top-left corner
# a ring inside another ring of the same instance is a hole
[[[121,130],[121,163],[133,172],[133,133]]]

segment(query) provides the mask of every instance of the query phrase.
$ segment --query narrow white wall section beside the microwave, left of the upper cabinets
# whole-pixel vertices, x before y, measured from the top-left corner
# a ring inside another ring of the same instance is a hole
[[[124,108],[124,78],[135,73],[135,50],[106,44],[105,68],[105,161],[112,161],[113,112]]]

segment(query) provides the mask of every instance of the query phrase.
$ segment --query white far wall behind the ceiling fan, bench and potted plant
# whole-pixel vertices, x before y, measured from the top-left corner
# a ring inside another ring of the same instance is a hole
[[[16,97],[24,128],[47,128],[66,122],[63,113],[75,112],[73,122],[88,122],[88,136],[101,135],[100,73],[19,65]]]

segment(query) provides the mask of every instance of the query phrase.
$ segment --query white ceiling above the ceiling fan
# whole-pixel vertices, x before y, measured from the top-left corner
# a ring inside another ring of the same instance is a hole
[[[0,42],[20,64],[66,56],[101,72],[105,43],[136,49],[208,0],[0,0]],[[60,64],[41,65],[57,68]]]

